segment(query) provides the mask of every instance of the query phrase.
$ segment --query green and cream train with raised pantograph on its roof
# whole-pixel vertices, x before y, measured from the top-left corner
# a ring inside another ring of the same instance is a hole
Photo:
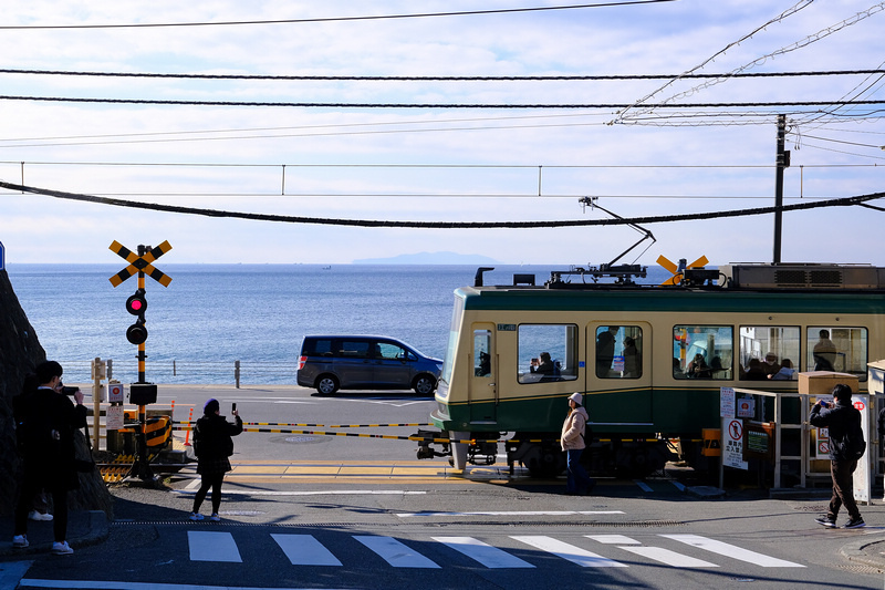
[[[593,467],[641,476],[679,449],[694,463],[702,428],[719,425],[719,389],[796,391],[796,372],[856,374],[885,359],[885,269],[729,265],[686,269],[677,284],[637,284],[645,268],[553,272],[543,286],[455,291],[434,426],[457,468],[507,462],[560,473],[566,397],[585,395]],[[577,276],[577,281],[574,277]],[[590,280],[587,280],[590,279]],[[456,441],[473,439],[473,444]],[[681,444],[674,444],[680,442]],[[437,443],[439,444],[439,443]]]

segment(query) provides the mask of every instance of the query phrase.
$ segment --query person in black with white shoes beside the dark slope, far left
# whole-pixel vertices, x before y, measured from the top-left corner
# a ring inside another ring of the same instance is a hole
[[[74,431],[86,425],[83,392],[73,392],[74,402],[62,393],[62,365],[46,361],[35,369],[39,386],[19,400],[15,408],[15,436],[21,445],[23,468],[15,504],[12,547],[28,542],[28,513],[34,496],[43,488],[52,494],[55,516],[52,522],[54,555],[70,555],[67,545],[67,491],[75,489]]]

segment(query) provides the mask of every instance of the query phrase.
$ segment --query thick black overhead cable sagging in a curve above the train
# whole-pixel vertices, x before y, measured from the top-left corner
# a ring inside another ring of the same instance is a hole
[[[100,205],[112,205],[116,207],[131,207],[136,209],[148,209],[154,211],[177,213],[185,215],[200,215],[205,217],[249,219],[254,221],[278,221],[285,224],[313,224],[326,226],[350,226],[350,227],[388,227],[388,228],[419,228],[419,229],[530,229],[530,228],[552,228],[552,227],[583,227],[583,226],[622,226],[622,225],[646,225],[669,221],[689,221],[700,219],[717,219],[725,217],[748,217],[753,215],[767,215],[775,211],[794,211],[803,209],[816,209],[821,207],[850,207],[863,205],[870,200],[885,198],[885,193],[873,193],[855,197],[827,199],[815,203],[799,203],[795,205],[784,205],[781,207],[757,207],[752,209],[735,209],[727,211],[696,213],[681,215],[662,215],[634,217],[631,219],[565,219],[553,221],[385,221],[375,219],[334,219],[327,217],[302,217],[290,215],[254,214],[242,211],[225,211],[219,209],[200,209],[197,207],[180,207],[177,205],[162,205],[158,203],[138,203],[116,198],[97,197],[95,195],[84,195],[79,193],[65,193],[49,188],[38,188],[33,186],[17,185],[0,182],[0,188],[20,193],[32,193],[34,195],[45,195],[61,199],[77,200],[85,203],[97,203]]]

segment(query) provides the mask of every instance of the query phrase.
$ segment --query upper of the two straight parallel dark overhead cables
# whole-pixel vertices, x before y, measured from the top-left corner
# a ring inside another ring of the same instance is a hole
[[[19,70],[0,69],[0,74],[23,75],[70,75],[94,77],[157,77],[174,80],[271,80],[312,82],[571,82],[571,81],[625,81],[625,80],[670,80],[727,79],[727,77],[806,77],[830,75],[885,74],[885,70],[826,70],[805,72],[732,72],[719,74],[601,74],[601,75],[270,75],[270,74],[188,74],[157,72],[95,72],[64,70]]]

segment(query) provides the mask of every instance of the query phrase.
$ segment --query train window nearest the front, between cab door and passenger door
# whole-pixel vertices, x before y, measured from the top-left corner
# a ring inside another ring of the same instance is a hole
[[[521,324],[518,333],[520,383],[577,379],[576,325]]]

